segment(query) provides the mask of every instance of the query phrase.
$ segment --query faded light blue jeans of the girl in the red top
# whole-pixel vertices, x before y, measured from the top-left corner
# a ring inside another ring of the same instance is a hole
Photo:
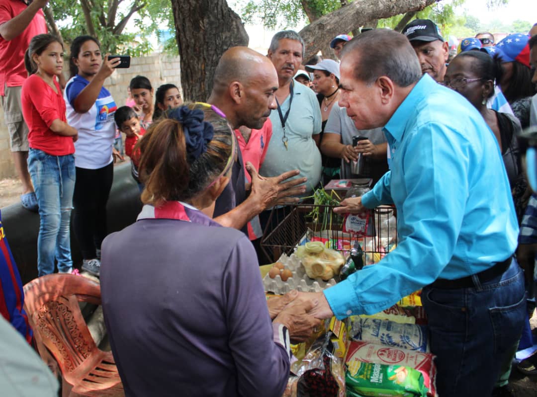
[[[66,273],[72,269],[69,225],[75,189],[75,157],[52,156],[30,148],[28,171],[39,203],[39,277],[54,273],[54,258],[58,261],[58,270]]]

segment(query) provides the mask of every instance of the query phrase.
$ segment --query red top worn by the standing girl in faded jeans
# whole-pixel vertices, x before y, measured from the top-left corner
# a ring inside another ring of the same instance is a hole
[[[30,131],[28,142],[30,148],[42,150],[48,155],[72,155],[75,152],[72,137],[54,134],[49,128],[56,119],[67,123],[66,102],[56,79],[54,85],[57,93],[37,75],[31,75],[23,84],[20,99],[24,120]]]

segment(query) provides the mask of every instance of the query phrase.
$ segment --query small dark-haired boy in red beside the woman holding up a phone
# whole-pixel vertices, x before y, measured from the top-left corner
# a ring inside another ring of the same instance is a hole
[[[146,133],[140,126],[140,119],[138,115],[133,110],[133,108],[128,106],[121,106],[115,111],[114,114],[115,124],[118,126],[118,129],[125,134],[125,154],[130,157],[130,168],[134,180],[138,183],[140,192],[143,190],[143,184],[138,179],[138,160],[140,153],[134,152],[134,145],[138,142],[138,139]],[[133,153],[134,152],[134,153]]]

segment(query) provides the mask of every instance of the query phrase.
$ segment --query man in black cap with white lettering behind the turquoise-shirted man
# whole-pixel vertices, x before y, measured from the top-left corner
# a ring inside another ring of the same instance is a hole
[[[415,19],[401,32],[416,51],[422,72],[437,82],[444,80],[449,46],[430,19]]]

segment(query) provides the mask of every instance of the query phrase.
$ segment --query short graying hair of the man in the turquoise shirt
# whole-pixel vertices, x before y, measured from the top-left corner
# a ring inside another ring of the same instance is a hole
[[[375,29],[364,32],[347,43],[343,57],[354,57],[354,77],[373,84],[387,76],[400,87],[408,87],[422,77],[415,50],[401,33]]]

